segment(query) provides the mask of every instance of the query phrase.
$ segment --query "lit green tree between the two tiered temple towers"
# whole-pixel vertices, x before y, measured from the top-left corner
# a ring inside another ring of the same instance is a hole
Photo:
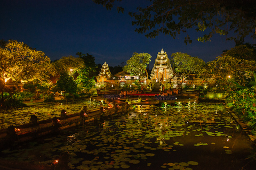
[[[123,71],[126,71],[132,75],[138,75],[141,79],[143,73],[147,68],[147,64],[151,61],[152,56],[148,53],[136,53],[134,52],[132,57],[126,61],[126,65],[123,67]]]

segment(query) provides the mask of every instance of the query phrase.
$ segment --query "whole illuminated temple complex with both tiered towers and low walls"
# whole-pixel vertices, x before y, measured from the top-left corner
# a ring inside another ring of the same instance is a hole
[[[173,77],[173,69],[170,63],[170,60],[162,49],[161,52],[158,52],[154,67],[151,71],[150,79],[157,84],[162,82],[162,84],[169,83],[171,88],[176,88],[179,83],[181,83],[181,79],[179,76],[175,75]],[[124,71],[111,75],[108,64],[105,62],[102,65],[101,71],[97,76],[97,87],[103,86],[103,84],[108,84],[109,87],[119,88],[123,87],[125,84],[128,86],[134,86],[134,82],[139,80],[138,76],[130,75],[130,73],[125,73]],[[143,80],[146,82],[146,80]],[[148,82],[148,80],[147,80]],[[203,83],[202,79],[191,79],[186,80],[187,86],[206,86],[206,83]],[[210,80],[208,85],[212,85],[214,80]],[[104,86],[105,86],[104,85]],[[157,86],[155,86],[157,88]],[[169,87],[168,87],[169,88]]]

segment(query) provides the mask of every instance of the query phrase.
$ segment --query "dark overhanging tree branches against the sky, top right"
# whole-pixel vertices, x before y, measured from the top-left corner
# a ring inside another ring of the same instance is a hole
[[[110,10],[116,1],[93,0]],[[147,33],[146,37],[155,38],[159,33],[175,38],[187,33],[185,43],[191,43],[188,30],[204,31],[198,41],[207,41],[218,33],[229,35],[227,40],[241,41],[247,35],[256,38],[256,1],[254,0],[150,0],[147,7],[137,7],[129,14],[135,19],[133,25],[138,33]],[[118,12],[124,8],[117,7]],[[233,34],[235,33],[235,35]]]

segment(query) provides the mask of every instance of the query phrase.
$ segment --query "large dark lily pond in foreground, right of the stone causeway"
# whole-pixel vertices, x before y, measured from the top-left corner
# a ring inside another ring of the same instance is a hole
[[[55,169],[255,169],[255,147],[220,104],[139,106],[103,124],[2,151]],[[62,166],[62,168],[61,168]]]

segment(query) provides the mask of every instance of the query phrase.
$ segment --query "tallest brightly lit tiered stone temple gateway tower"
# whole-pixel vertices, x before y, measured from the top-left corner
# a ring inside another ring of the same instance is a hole
[[[162,49],[161,53],[158,52],[157,54],[150,78],[156,82],[169,82],[169,78],[172,78],[172,75],[173,71],[170,60]]]

